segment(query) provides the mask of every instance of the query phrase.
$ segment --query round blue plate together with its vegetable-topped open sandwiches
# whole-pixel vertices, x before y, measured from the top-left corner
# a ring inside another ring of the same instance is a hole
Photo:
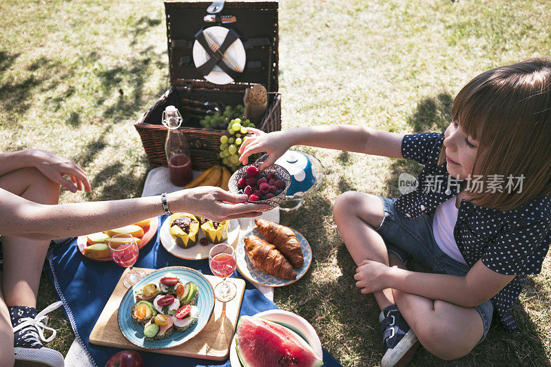
[[[171,348],[197,335],[214,309],[214,291],[198,271],[171,266],[145,275],[118,308],[118,327],[141,348]]]

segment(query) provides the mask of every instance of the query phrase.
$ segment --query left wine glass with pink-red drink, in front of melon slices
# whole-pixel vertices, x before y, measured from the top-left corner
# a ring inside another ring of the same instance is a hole
[[[136,238],[128,233],[119,233],[109,240],[109,251],[113,261],[121,266],[129,267],[130,270],[123,279],[123,284],[129,288],[136,284],[138,280],[145,275],[139,269],[134,269],[132,265],[138,260],[140,249],[136,243]]]

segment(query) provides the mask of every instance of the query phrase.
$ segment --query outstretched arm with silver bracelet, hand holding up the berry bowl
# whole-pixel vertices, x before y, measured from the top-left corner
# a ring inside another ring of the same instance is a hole
[[[221,222],[259,216],[268,205],[245,203],[246,196],[218,187],[167,194],[170,211],[188,211]],[[233,203],[233,204],[232,204]],[[0,189],[0,233],[37,240],[65,238],[123,227],[164,214],[160,196],[102,202],[41,205]]]

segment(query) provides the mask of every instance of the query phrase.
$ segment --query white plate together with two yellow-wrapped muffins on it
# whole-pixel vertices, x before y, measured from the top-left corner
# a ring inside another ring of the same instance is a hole
[[[174,213],[160,227],[160,243],[177,258],[202,260],[209,258],[209,251],[215,244],[234,244],[239,230],[236,219],[218,223],[190,213]]]

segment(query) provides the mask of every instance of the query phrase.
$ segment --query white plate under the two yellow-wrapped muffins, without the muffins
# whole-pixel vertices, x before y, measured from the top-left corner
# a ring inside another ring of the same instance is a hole
[[[214,244],[209,242],[207,246],[203,246],[199,243],[201,238],[205,238],[205,234],[202,233],[199,229],[199,237],[197,238],[197,244],[189,249],[183,249],[176,244],[176,241],[169,232],[170,229],[170,217],[168,217],[163,225],[160,226],[160,243],[163,244],[165,250],[167,250],[171,255],[176,256],[176,258],[185,259],[185,260],[203,260],[209,258],[209,251],[214,247]],[[223,241],[227,244],[231,244],[235,247],[235,242],[239,237],[239,222],[236,219],[229,221],[228,226],[228,238]]]

